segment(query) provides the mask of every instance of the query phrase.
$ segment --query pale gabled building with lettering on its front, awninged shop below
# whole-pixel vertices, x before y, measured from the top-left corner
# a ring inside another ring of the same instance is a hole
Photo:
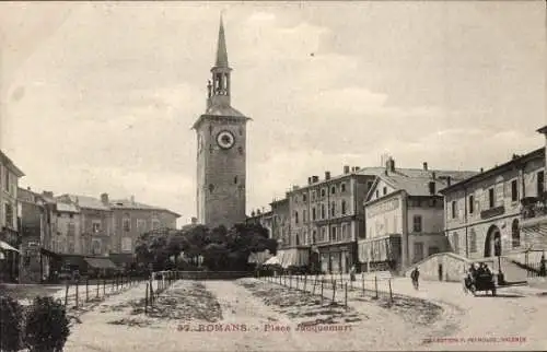
[[[362,270],[400,271],[447,251],[440,190],[476,173],[396,168],[389,157],[364,201],[366,237],[358,243]]]

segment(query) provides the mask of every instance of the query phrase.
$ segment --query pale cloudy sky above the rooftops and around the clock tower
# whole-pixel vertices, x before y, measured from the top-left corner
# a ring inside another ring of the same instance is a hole
[[[479,169],[544,145],[543,1],[2,2],[0,148],[22,186],[187,222],[221,11],[248,212],[383,153]]]

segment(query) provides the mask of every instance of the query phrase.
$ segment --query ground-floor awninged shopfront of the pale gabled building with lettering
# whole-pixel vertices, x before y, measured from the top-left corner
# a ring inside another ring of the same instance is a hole
[[[363,271],[398,271],[401,255],[399,234],[359,242],[359,261]]]

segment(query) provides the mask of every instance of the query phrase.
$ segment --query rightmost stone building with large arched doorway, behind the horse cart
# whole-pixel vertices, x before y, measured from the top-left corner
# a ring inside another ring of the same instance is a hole
[[[545,195],[545,148],[513,155],[511,161],[441,192],[444,232],[455,254],[468,258],[516,258],[534,248],[542,249],[546,243],[545,236],[537,237],[536,232],[528,231],[540,223],[532,219],[538,218],[534,210],[540,208],[537,203]]]

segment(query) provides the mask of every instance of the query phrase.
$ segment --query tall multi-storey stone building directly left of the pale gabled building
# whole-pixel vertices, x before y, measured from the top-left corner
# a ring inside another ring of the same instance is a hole
[[[365,236],[364,210],[359,204],[379,169],[344,166],[341,175],[311,176],[307,185],[288,192],[289,246],[301,254],[307,249],[307,265],[324,272],[348,272],[357,263],[357,240]]]

